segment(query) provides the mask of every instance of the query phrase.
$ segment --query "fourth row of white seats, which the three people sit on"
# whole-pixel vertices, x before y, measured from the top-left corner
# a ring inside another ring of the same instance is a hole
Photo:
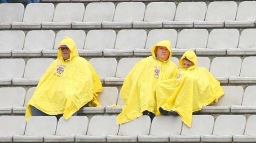
[[[256,86],[248,86],[245,91],[241,86],[222,86],[225,95],[216,105],[203,106],[199,114],[255,114]],[[27,102],[31,99],[35,87],[0,88],[0,114],[25,114]],[[119,114],[124,101],[116,87],[103,87],[99,95],[101,107],[83,107],[79,114]],[[118,105],[118,106],[116,106]]]

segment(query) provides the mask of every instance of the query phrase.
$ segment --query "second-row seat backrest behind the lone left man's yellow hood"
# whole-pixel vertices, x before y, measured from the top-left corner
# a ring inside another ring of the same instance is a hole
[[[53,49],[58,49],[59,43],[65,37],[69,37],[74,40],[76,49],[84,48],[84,41],[85,41],[85,37],[86,37],[84,30],[61,30],[56,35]]]

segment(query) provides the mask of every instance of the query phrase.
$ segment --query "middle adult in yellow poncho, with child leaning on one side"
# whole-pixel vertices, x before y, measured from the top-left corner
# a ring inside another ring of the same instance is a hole
[[[157,83],[177,76],[177,67],[170,60],[172,53],[168,40],[156,44],[151,52],[152,56],[139,61],[124,80],[121,97],[125,105],[117,116],[117,124],[132,121],[143,114],[154,118]]]

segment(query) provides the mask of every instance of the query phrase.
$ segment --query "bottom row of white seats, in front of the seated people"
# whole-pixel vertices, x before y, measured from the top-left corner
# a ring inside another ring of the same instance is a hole
[[[256,115],[247,120],[243,115],[193,115],[191,128],[179,117],[149,116],[116,125],[116,116],[63,117],[32,116],[26,123],[23,116],[0,116],[0,141],[27,142],[102,142],[102,143],[243,143],[256,142]],[[87,129],[88,128],[88,129]]]

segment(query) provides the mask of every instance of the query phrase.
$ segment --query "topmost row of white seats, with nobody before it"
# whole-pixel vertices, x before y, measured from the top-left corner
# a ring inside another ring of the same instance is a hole
[[[0,17],[0,29],[255,27],[256,2],[0,4]]]

